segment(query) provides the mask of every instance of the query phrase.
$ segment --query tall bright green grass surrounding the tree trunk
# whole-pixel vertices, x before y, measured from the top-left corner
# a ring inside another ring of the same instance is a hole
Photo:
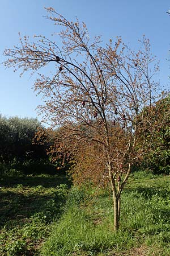
[[[170,177],[138,172],[122,193],[120,230],[113,232],[112,195],[72,189],[44,256],[170,255]]]

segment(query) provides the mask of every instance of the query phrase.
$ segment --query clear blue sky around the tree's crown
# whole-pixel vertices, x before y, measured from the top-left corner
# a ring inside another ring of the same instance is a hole
[[[0,63],[5,48],[19,43],[18,32],[24,35],[50,35],[56,27],[42,16],[44,7],[53,7],[67,19],[86,22],[91,36],[102,35],[103,41],[122,36],[131,48],[145,34],[151,49],[160,60],[160,83],[169,88],[170,1],[164,0],[0,0]],[[0,65],[0,114],[7,117],[37,117],[36,106],[41,98],[31,89],[36,75],[5,69]],[[39,118],[40,119],[40,118]]]

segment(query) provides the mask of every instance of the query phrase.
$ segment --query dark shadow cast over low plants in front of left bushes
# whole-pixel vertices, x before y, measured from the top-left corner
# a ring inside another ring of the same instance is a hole
[[[46,222],[59,218],[70,185],[59,175],[6,177],[0,188],[0,228],[12,228],[36,215]]]

